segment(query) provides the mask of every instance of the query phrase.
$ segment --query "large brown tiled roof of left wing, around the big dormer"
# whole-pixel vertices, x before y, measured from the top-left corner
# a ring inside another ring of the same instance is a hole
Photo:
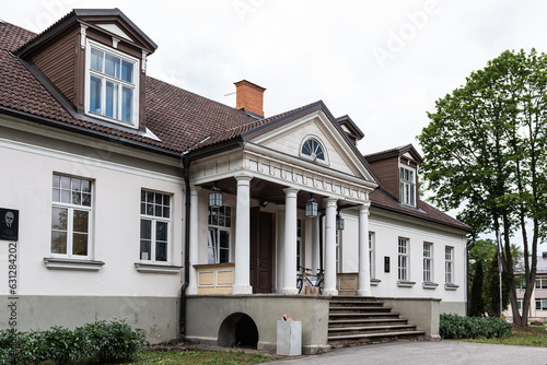
[[[264,123],[242,110],[213,102],[153,78],[147,78],[147,127],[161,141],[119,128],[74,118],[11,52],[36,35],[0,23],[0,107],[60,121],[84,130],[182,153],[208,138],[210,145]]]

